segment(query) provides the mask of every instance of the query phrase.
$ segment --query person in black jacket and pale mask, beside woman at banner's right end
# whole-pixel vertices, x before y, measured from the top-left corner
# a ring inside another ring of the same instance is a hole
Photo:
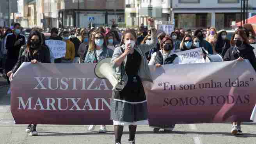
[[[227,32],[225,30],[222,30],[218,33],[215,51],[224,57],[229,47],[230,41],[227,39]]]

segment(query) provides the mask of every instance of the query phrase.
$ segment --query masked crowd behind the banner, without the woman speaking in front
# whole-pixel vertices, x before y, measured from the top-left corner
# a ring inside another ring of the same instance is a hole
[[[13,28],[0,27],[0,65],[1,76],[10,79],[22,62],[32,63],[97,63],[105,57],[112,57],[115,49],[123,46],[124,34],[135,33],[135,46],[148,44],[154,37],[147,28],[141,24],[136,29],[119,30],[115,25],[111,27],[87,28],[52,28],[45,32],[40,28],[32,28],[26,37],[25,30],[16,23]],[[49,35],[47,35],[49,33]],[[148,65],[160,67],[165,64],[178,64],[176,52],[203,47],[209,54],[220,54],[224,61],[249,59],[256,69],[256,59],[250,44],[255,44],[255,33],[245,28],[238,29],[231,39],[227,38],[226,30],[217,31],[215,28],[206,30],[185,30],[176,28],[170,34],[156,33],[156,44],[150,51],[144,53]],[[66,54],[55,59],[53,53],[45,44],[45,40],[63,40],[66,42]],[[206,52],[204,52],[206,54]],[[10,78],[9,78],[10,77]],[[11,91],[9,90],[9,93]],[[36,132],[36,125],[28,126],[28,132]],[[154,132],[160,128],[172,131],[175,124],[154,125]],[[89,126],[93,130],[95,125]],[[242,133],[239,122],[234,122],[232,130]],[[100,126],[100,132],[106,132],[105,125]],[[232,131],[233,132],[233,131]],[[35,133],[34,133],[35,134]]]

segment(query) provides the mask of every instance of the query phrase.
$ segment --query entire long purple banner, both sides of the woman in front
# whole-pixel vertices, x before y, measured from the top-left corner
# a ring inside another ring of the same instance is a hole
[[[113,124],[112,86],[96,78],[94,66],[23,63],[11,82],[16,124]],[[144,82],[149,122],[250,121],[256,103],[252,70],[247,61],[152,66],[154,83]]]

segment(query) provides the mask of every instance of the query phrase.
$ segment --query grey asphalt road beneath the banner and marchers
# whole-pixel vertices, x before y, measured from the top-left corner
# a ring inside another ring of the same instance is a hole
[[[107,133],[87,131],[84,125],[38,125],[39,136],[29,137],[27,125],[15,125],[10,112],[8,85],[0,78],[0,144],[114,144],[114,126]],[[98,130],[99,126],[95,130]],[[231,124],[176,125],[172,133],[153,133],[153,128],[140,125],[136,144],[256,144],[256,123],[243,123],[244,135],[233,136]],[[128,143],[128,127],[124,128],[122,144]]]

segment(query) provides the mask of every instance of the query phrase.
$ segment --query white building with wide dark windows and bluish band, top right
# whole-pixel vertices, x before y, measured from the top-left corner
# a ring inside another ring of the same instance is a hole
[[[241,0],[172,0],[172,18],[175,27],[220,29],[231,28],[231,22],[240,21]],[[256,1],[249,0],[249,15],[255,13]]]

